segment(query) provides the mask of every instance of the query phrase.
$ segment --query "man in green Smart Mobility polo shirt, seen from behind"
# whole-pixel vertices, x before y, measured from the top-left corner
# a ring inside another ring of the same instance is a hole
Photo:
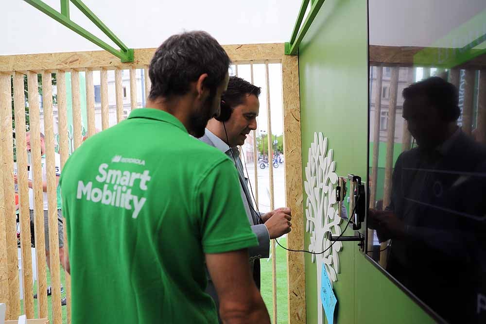
[[[72,323],[270,323],[248,268],[257,244],[229,158],[196,138],[219,114],[229,58],[209,34],[174,35],[149,69],[148,108],[87,139],[61,190]],[[192,136],[190,136],[192,135]]]

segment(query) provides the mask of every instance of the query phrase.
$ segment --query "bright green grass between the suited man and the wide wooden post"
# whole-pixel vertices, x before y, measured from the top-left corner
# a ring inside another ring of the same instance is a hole
[[[281,238],[278,242],[287,247],[287,238]],[[277,324],[287,324],[288,323],[288,308],[287,300],[289,295],[288,284],[287,284],[287,251],[282,249],[276,244],[276,254],[277,254]],[[270,250],[271,251],[271,250]],[[261,287],[260,292],[263,297],[263,301],[267,306],[268,313],[272,323],[275,324],[273,319],[273,278],[272,278],[272,258],[261,259]]]

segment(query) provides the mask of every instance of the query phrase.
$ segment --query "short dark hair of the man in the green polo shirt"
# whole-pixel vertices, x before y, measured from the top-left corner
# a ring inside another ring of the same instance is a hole
[[[208,73],[204,85],[214,94],[226,77],[229,63],[226,51],[208,33],[173,35],[160,45],[150,62],[149,98],[182,96],[204,73]]]

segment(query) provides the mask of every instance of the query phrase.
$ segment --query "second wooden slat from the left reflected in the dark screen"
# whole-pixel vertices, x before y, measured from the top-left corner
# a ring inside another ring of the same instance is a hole
[[[388,133],[386,142],[386,162],[385,162],[385,184],[383,188],[383,208],[390,205],[392,190],[393,172],[393,147],[395,145],[395,121],[397,116],[397,96],[398,96],[398,77],[399,68],[393,67],[390,79],[390,101],[388,105]],[[384,250],[387,242],[382,243],[381,250]],[[388,250],[380,253],[380,264],[386,267],[386,257]]]

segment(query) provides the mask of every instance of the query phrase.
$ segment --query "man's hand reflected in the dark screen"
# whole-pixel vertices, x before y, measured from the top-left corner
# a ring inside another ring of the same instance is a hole
[[[380,241],[406,237],[405,224],[392,211],[370,209],[368,216]]]

